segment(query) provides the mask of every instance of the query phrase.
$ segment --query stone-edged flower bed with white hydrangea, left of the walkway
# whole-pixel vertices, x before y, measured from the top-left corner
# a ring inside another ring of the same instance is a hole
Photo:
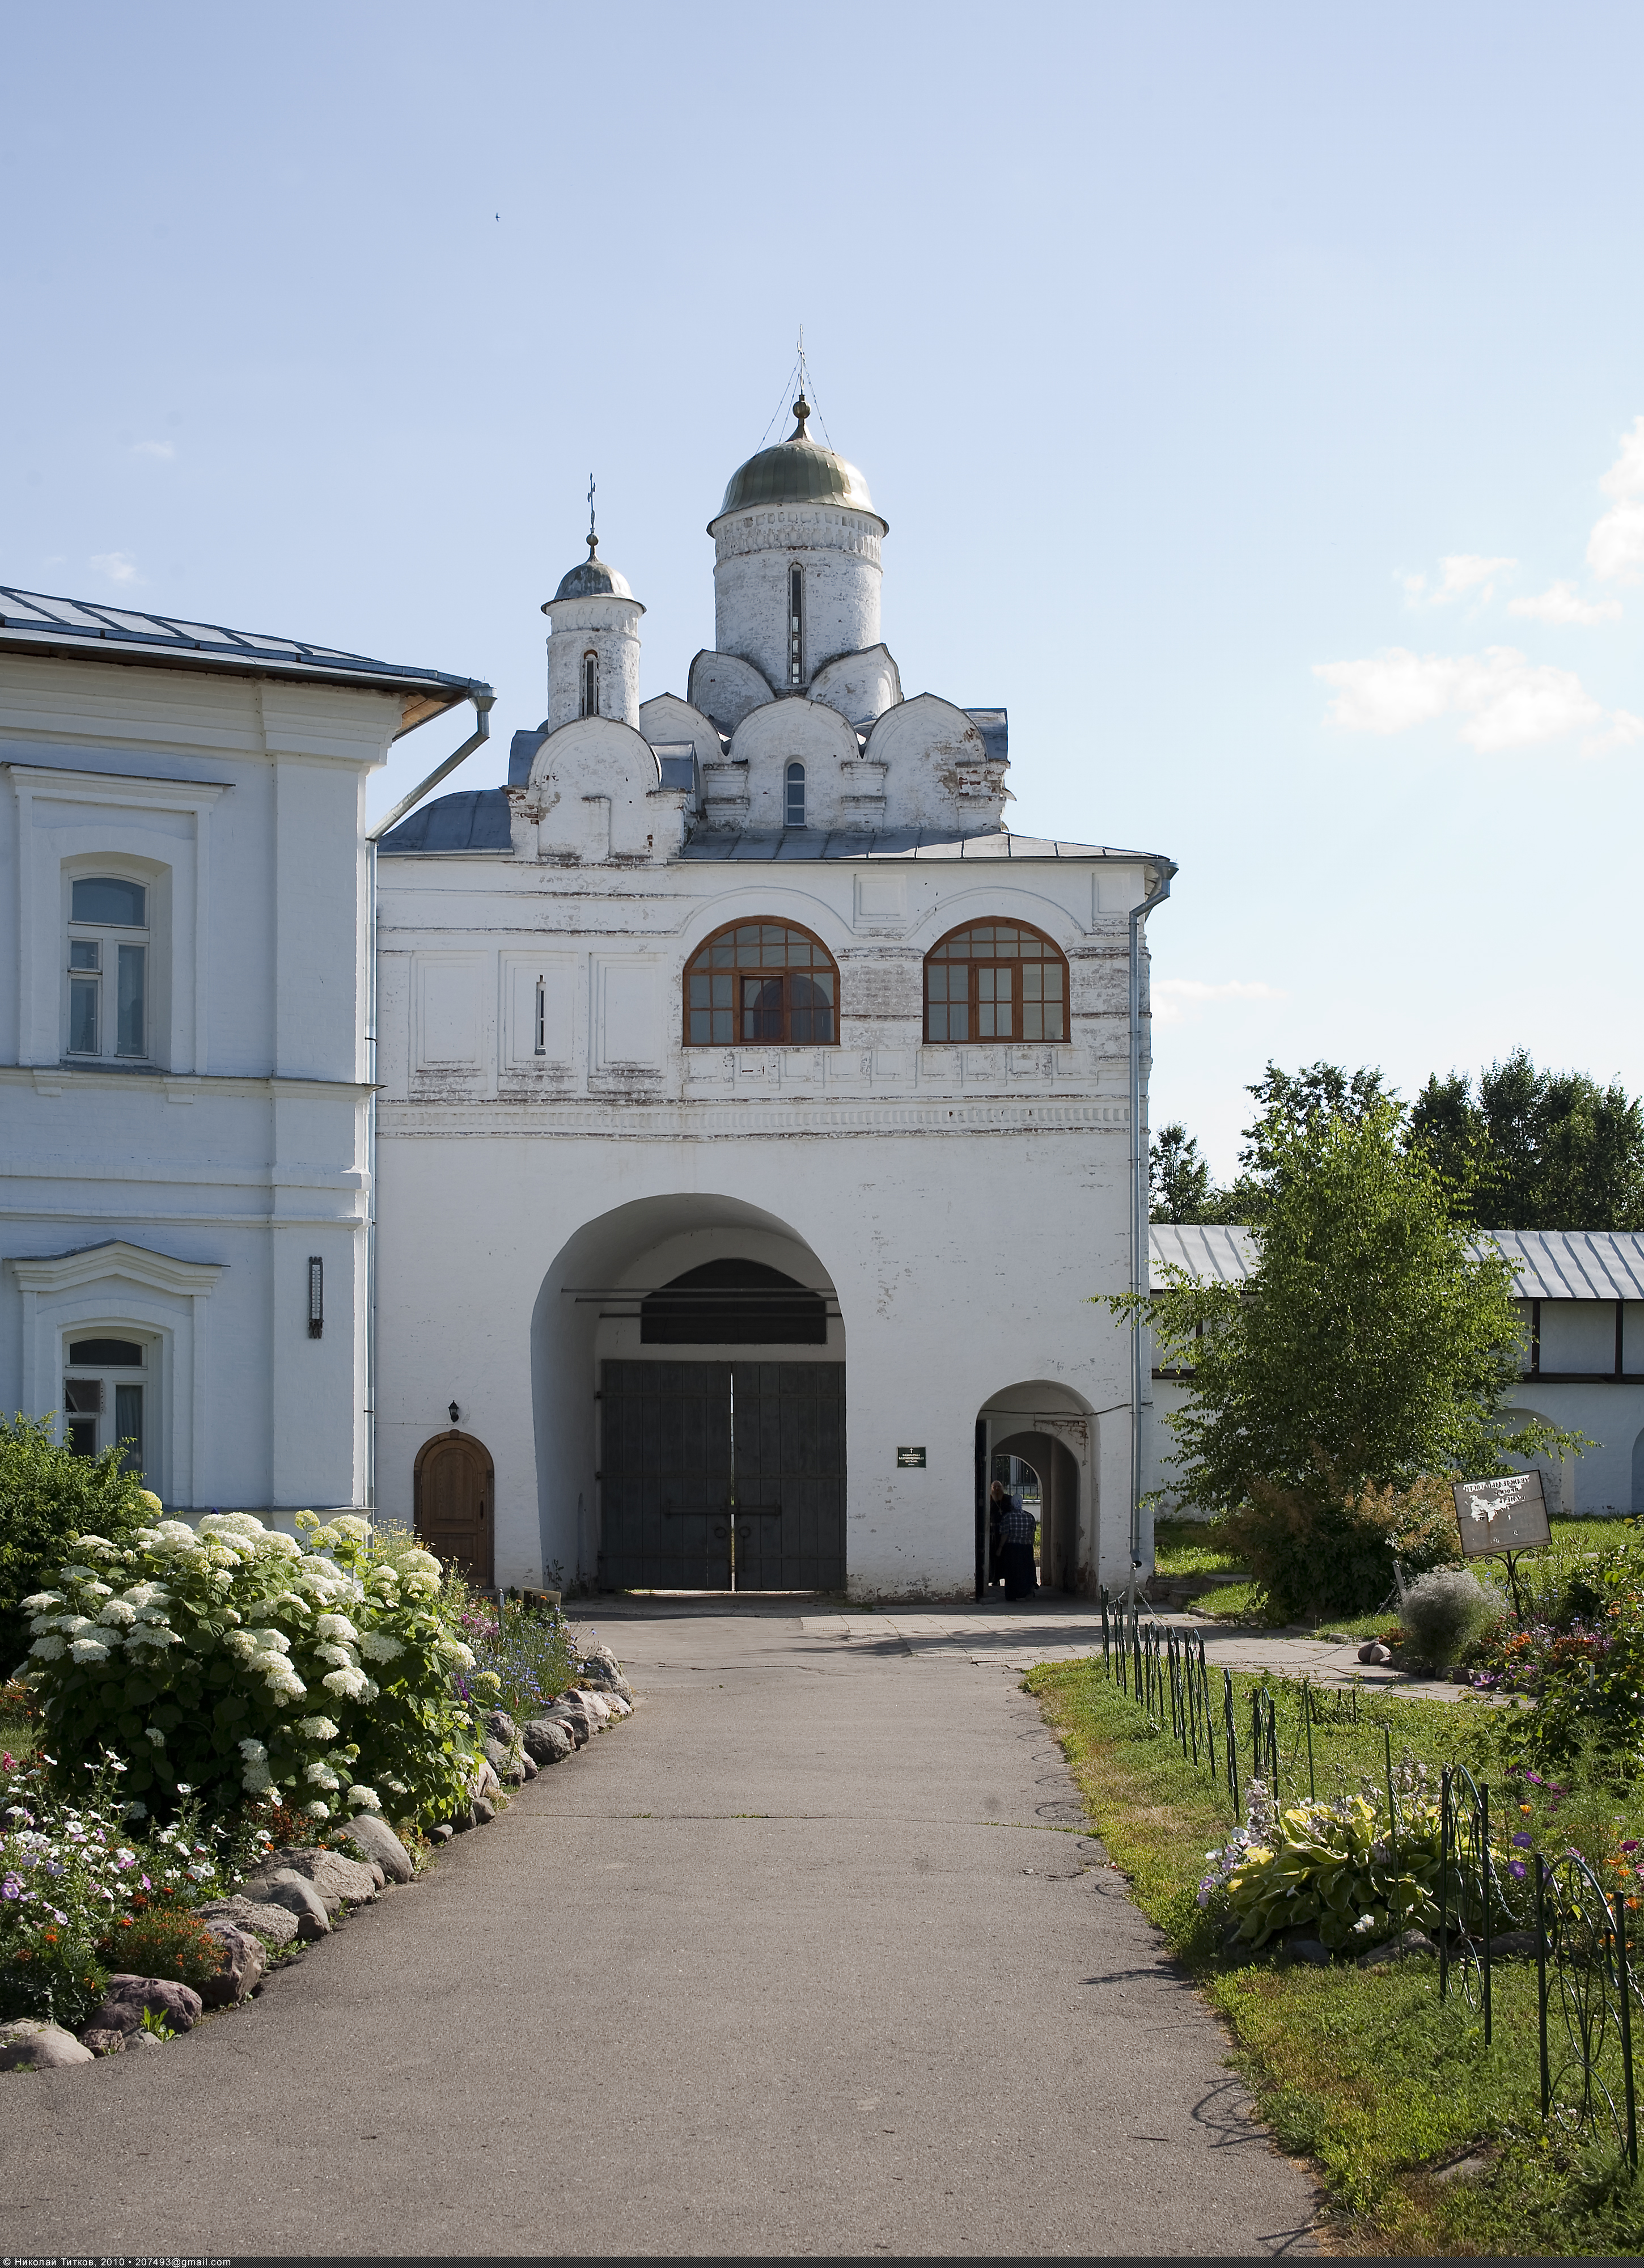
[[[628,1715],[617,1658],[558,1613],[474,1601],[404,1533],[299,1526],[79,1535],[27,1599],[9,1699],[43,1740],[0,1765],[0,2068],[245,1998]]]

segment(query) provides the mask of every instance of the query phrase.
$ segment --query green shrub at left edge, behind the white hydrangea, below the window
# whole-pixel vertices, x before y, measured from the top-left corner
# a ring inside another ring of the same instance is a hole
[[[70,1540],[86,1529],[127,1540],[159,1508],[122,1449],[75,1456],[52,1440],[50,1417],[0,1417],[0,1676],[29,1642],[23,1599],[50,1581]]]

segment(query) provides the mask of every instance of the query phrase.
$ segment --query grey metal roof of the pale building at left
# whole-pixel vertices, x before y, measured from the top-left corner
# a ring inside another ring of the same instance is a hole
[[[376,662],[365,653],[342,653],[340,646],[315,646],[306,637],[224,631],[215,621],[141,615],[93,599],[48,599],[36,590],[9,585],[0,585],[0,653],[141,660],[161,669],[229,669],[236,676],[370,685],[401,696],[401,733],[456,708],[458,701],[490,692],[478,678],[456,678],[442,669],[415,669],[406,662]]]

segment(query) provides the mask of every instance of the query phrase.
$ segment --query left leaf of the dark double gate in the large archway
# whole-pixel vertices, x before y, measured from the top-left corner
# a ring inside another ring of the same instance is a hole
[[[730,1590],[730,1363],[601,1363],[601,1583]]]

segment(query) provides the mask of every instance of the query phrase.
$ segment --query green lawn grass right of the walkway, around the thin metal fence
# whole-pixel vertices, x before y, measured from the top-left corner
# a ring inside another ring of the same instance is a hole
[[[1256,1678],[1236,1678],[1240,1730]],[[1231,1823],[1227,1794],[1147,1724],[1102,1662],[1027,1676],[1084,1792],[1095,1833],[1143,1912],[1200,1980],[1234,2034],[1234,2062],[1281,2148],[1315,2161],[1329,2241],[1345,2252],[1603,2257],[1644,2248],[1644,2184],[1615,2157],[1546,2136],[1540,2118],[1535,1966],[1494,1971],[1494,2041],[1460,1996],[1440,2003],[1438,1964],[1361,1971],[1229,1957],[1197,1905],[1204,1853]],[[1347,1708],[1351,1703],[1345,1703]],[[1313,1728],[1317,1794],[1379,1780],[1395,1762],[1485,1769],[1492,1724],[1469,1701],[1361,1701],[1358,1719]],[[1279,1701],[1281,1799],[1306,1796],[1299,1710]],[[1440,2180],[1467,2159],[1460,2177]]]

